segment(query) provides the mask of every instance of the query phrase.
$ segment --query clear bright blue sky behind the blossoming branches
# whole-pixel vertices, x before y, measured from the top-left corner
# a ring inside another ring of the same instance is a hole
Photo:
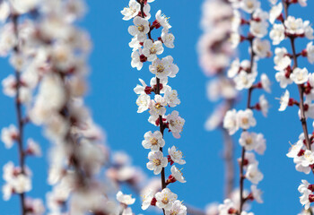
[[[171,185],[170,189],[179,194],[179,199],[198,208],[204,208],[209,202],[222,202],[223,200],[223,165],[222,165],[222,136],[220,132],[205,132],[205,119],[213,110],[205,95],[205,83],[208,80],[197,64],[196,42],[201,34],[199,20],[201,13],[201,0],[157,0],[152,5],[153,13],[161,9],[162,13],[170,16],[172,33],[176,36],[174,49],[166,49],[164,56],[174,57],[180,71],[176,78],[170,79],[170,86],[178,90],[181,105],[176,107],[181,116],[186,119],[186,125],[181,139],[177,140],[166,134],[166,146],[176,145],[185,154],[187,165],[183,172],[188,183]],[[92,73],[90,76],[91,87],[87,96],[87,104],[92,109],[95,121],[101,125],[108,134],[109,146],[112,150],[126,150],[133,157],[135,165],[145,169],[147,150],[141,145],[143,135],[155,129],[147,122],[148,113],[137,114],[133,89],[138,83],[138,78],[149,82],[152,73],[148,64],[140,72],[130,65],[131,48],[128,42],[131,36],[127,27],[132,23],[122,21],[120,11],[127,5],[127,0],[122,1],[90,1],[89,13],[83,21],[83,27],[90,31],[94,44],[91,56]],[[263,4],[268,4],[263,1]],[[268,5],[266,5],[266,8]],[[302,16],[314,21],[311,9],[314,3],[309,1],[307,8],[293,6],[292,14]],[[287,43],[283,43],[287,45]],[[297,43],[299,50],[304,43]],[[247,53],[247,50],[241,50]],[[301,179],[305,176],[296,172],[292,159],[285,153],[290,142],[296,142],[301,133],[301,125],[295,107],[289,108],[284,113],[277,111],[278,98],[283,90],[275,82],[275,71],[272,59],[266,59],[258,64],[259,73],[267,73],[273,84],[273,94],[266,95],[272,104],[269,116],[264,118],[260,113],[257,117],[257,126],[252,130],[262,132],[266,136],[267,150],[264,156],[257,156],[259,168],[264,173],[264,180],[259,187],[264,191],[264,204],[254,203],[252,211],[255,214],[297,214],[301,211],[299,193],[297,191]],[[313,72],[313,66],[308,66]],[[12,69],[6,59],[0,60],[3,79]],[[296,91],[296,86],[291,91]],[[257,102],[258,93],[254,92],[253,104]],[[292,93],[296,95],[296,93]],[[246,93],[243,99],[246,98]],[[0,96],[0,127],[15,122],[13,100]],[[244,108],[240,103],[238,108]],[[311,122],[310,122],[311,125]],[[311,128],[310,128],[311,129]],[[48,148],[48,141],[40,137],[41,130],[28,126],[26,136],[31,136],[39,141],[44,150]],[[235,135],[238,138],[239,133]],[[236,157],[240,156],[240,147],[236,142]],[[16,160],[16,148],[4,150],[0,144],[1,167],[8,160]],[[40,162],[39,162],[40,161]],[[43,197],[48,190],[46,185],[47,159],[28,159],[27,163],[34,172],[33,184],[36,185],[31,196]],[[239,169],[237,168],[237,172]],[[145,169],[152,176],[152,172]],[[2,174],[2,170],[0,170]],[[0,183],[2,185],[3,182]],[[238,179],[236,181],[238,184]],[[246,183],[249,185],[249,183]],[[138,204],[135,212],[141,212]],[[13,197],[10,202],[0,201],[1,214],[19,214],[17,210],[18,199]],[[146,214],[146,213],[145,213]]]

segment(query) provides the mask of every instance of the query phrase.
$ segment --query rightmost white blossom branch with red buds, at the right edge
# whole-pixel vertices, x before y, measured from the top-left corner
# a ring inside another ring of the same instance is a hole
[[[283,89],[291,84],[296,84],[299,90],[299,99],[291,98],[289,90],[285,90],[280,99],[279,111],[284,111],[287,107],[299,107],[299,117],[303,133],[300,134],[298,142],[292,145],[287,157],[292,158],[297,171],[310,174],[313,171],[314,152],[312,149],[313,137],[309,133],[308,119],[314,118],[314,74],[310,73],[306,67],[301,67],[298,63],[300,57],[307,58],[313,64],[313,45],[310,41],[306,47],[298,52],[296,42],[301,39],[314,39],[314,30],[309,21],[303,21],[288,13],[292,4],[306,6],[307,1],[283,1],[275,3],[270,11],[270,22],[273,29],[269,36],[274,45],[279,45],[284,39],[290,43],[290,48],[275,48],[275,79]],[[310,202],[313,202],[312,185],[306,180],[302,180],[299,186],[301,193],[300,202],[306,211],[300,214],[309,214]]]

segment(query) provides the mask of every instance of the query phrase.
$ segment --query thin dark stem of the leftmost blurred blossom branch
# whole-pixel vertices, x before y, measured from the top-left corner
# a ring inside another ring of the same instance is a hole
[[[14,35],[18,39],[19,38],[19,30],[18,30],[18,15],[12,16]],[[19,54],[20,48],[19,44],[14,47],[15,54]],[[19,164],[22,170],[22,174],[25,173],[25,153],[23,148],[23,131],[24,131],[24,120],[22,116],[22,104],[20,101],[20,90],[21,90],[21,72],[14,70],[15,79],[16,79],[16,95],[15,95],[15,111],[16,111],[16,120],[19,130],[19,136],[17,138],[18,150],[19,150]],[[25,193],[20,193],[20,202],[21,202],[21,211],[22,215],[26,214],[25,207]]]

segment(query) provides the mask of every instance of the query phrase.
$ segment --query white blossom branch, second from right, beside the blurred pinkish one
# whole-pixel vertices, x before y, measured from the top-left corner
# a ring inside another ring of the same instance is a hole
[[[258,183],[263,179],[263,174],[258,168],[258,161],[255,156],[264,154],[266,140],[263,133],[250,132],[249,129],[257,125],[253,110],[261,111],[267,116],[268,101],[262,94],[255,105],[251,105],[252,92],[260,89],[270,92],[270,81],[266,73],[262,73],[257,81],[257,61],[271,56],[270,42],[263,39],[267,34],[268,13],[261,9],[261,2],[258,0],[230,1],[233,8],[232,28],[230,40],[234,47],[238,47],[244,41],[249,42],[249,60],[234,59],[227,76],[234,82],[235,90],[248,90],[246,109],[228,110],[223,119],[223,127],[233,135],[240,129],[239,143],[241,146],[240,164],[240,198],[238,202],[226,199],[218,206],[219,214],[253,214],[248,213],[245,203],[250,201],[262,202],[261,191],[257,189]],[[246,18],[249,14],[249,18]],[[247,27],[246,27],[247,26]],[[247,32],[247,34],[245,34]],[[245,180],[251,185],[250,193],[244,190]]]

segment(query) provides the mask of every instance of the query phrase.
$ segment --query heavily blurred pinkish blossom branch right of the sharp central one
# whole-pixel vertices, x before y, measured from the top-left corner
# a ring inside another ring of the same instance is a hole
[[[233,141],[222,128],[223,117],[236,103],[238,91],[234,82],[227,77],[227,70],[234,56],[231,44],[233,9],[231,3],[224,0],[206,0],[202,6],[201,27],[204,31],[198,41],[199,64],[205,75],[213,76],[206,84],[207,98],[219,102],[208,117],[205,129],[222,129],[224,136],[225,195],[232,192],[234,186]]]

